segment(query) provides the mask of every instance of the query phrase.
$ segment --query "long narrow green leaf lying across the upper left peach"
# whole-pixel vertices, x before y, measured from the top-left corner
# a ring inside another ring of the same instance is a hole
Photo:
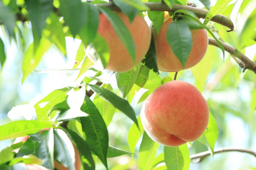
[[[129,0],[130,1],[130,0]],[[108,18],[117,36],[126,47],[132,60],[135,62],[135,45],[131,33],[119,18],[119,16],[106,7],[99,7],[99,10]]]

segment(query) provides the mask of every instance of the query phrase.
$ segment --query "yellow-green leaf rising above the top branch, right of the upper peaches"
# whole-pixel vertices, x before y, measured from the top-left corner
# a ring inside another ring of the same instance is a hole
[[[216,4],[207,13],[204,24],[207,24],[215,15],[223,12],[231,1],[232,0],[217,0]]]

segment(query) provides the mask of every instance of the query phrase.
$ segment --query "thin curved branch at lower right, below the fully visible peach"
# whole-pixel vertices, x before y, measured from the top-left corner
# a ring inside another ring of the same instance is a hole
[[[253,156],[256,157],[256,152],[250,149],[237,149],[237,148],[220,148],[220,149],[215,149],[214,150],[214,154],[216,153],[223,153],[223,152],[244,152],[244,153],[248,153],[251,154]],[[201,153],[196,153],[194,155],[190,156],[190,159],[196,159],[196,161],[194,163],[199,163],[201,162],[203,159],[205,159],[207,156],[210,156],[211,153],[210,151],[205,151],[205,152],[201,152]]]

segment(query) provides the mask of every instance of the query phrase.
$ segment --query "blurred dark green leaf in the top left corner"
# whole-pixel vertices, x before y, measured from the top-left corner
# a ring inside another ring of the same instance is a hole
[[[0,1],[0,21],[3,24],[8,32],[8,34],[13,37],[14,36],[14,27],[16,22],[16,17],[12,11],[6,7],[2,1]]]

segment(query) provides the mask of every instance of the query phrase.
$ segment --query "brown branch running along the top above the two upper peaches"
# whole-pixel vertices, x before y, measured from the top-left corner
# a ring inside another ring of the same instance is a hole
[[[162,2],[145,2],[144,4],[149,8],[150,11],[174,12],[177,10],[186,10],[186,11],[194,12],[198,18],[205,18],[207,13],[209,12],[209,11],[201,9],[201,8],[179,5],[179,4],[173,4],[173,7],[171,9],[166,4],[164,4]],[[120,9],[112,2],[98,3],[96,5],[110,8],[113,11],[120,11]],[[211,21],[214,21],[221,25],[224,25],[224,26],[228,27],[231,31],[233,31],[233,29],[234,29],[234,25],[233,25],[233,22],[231,21],[231,19],[224,15],[216,15],[211,19]]]

